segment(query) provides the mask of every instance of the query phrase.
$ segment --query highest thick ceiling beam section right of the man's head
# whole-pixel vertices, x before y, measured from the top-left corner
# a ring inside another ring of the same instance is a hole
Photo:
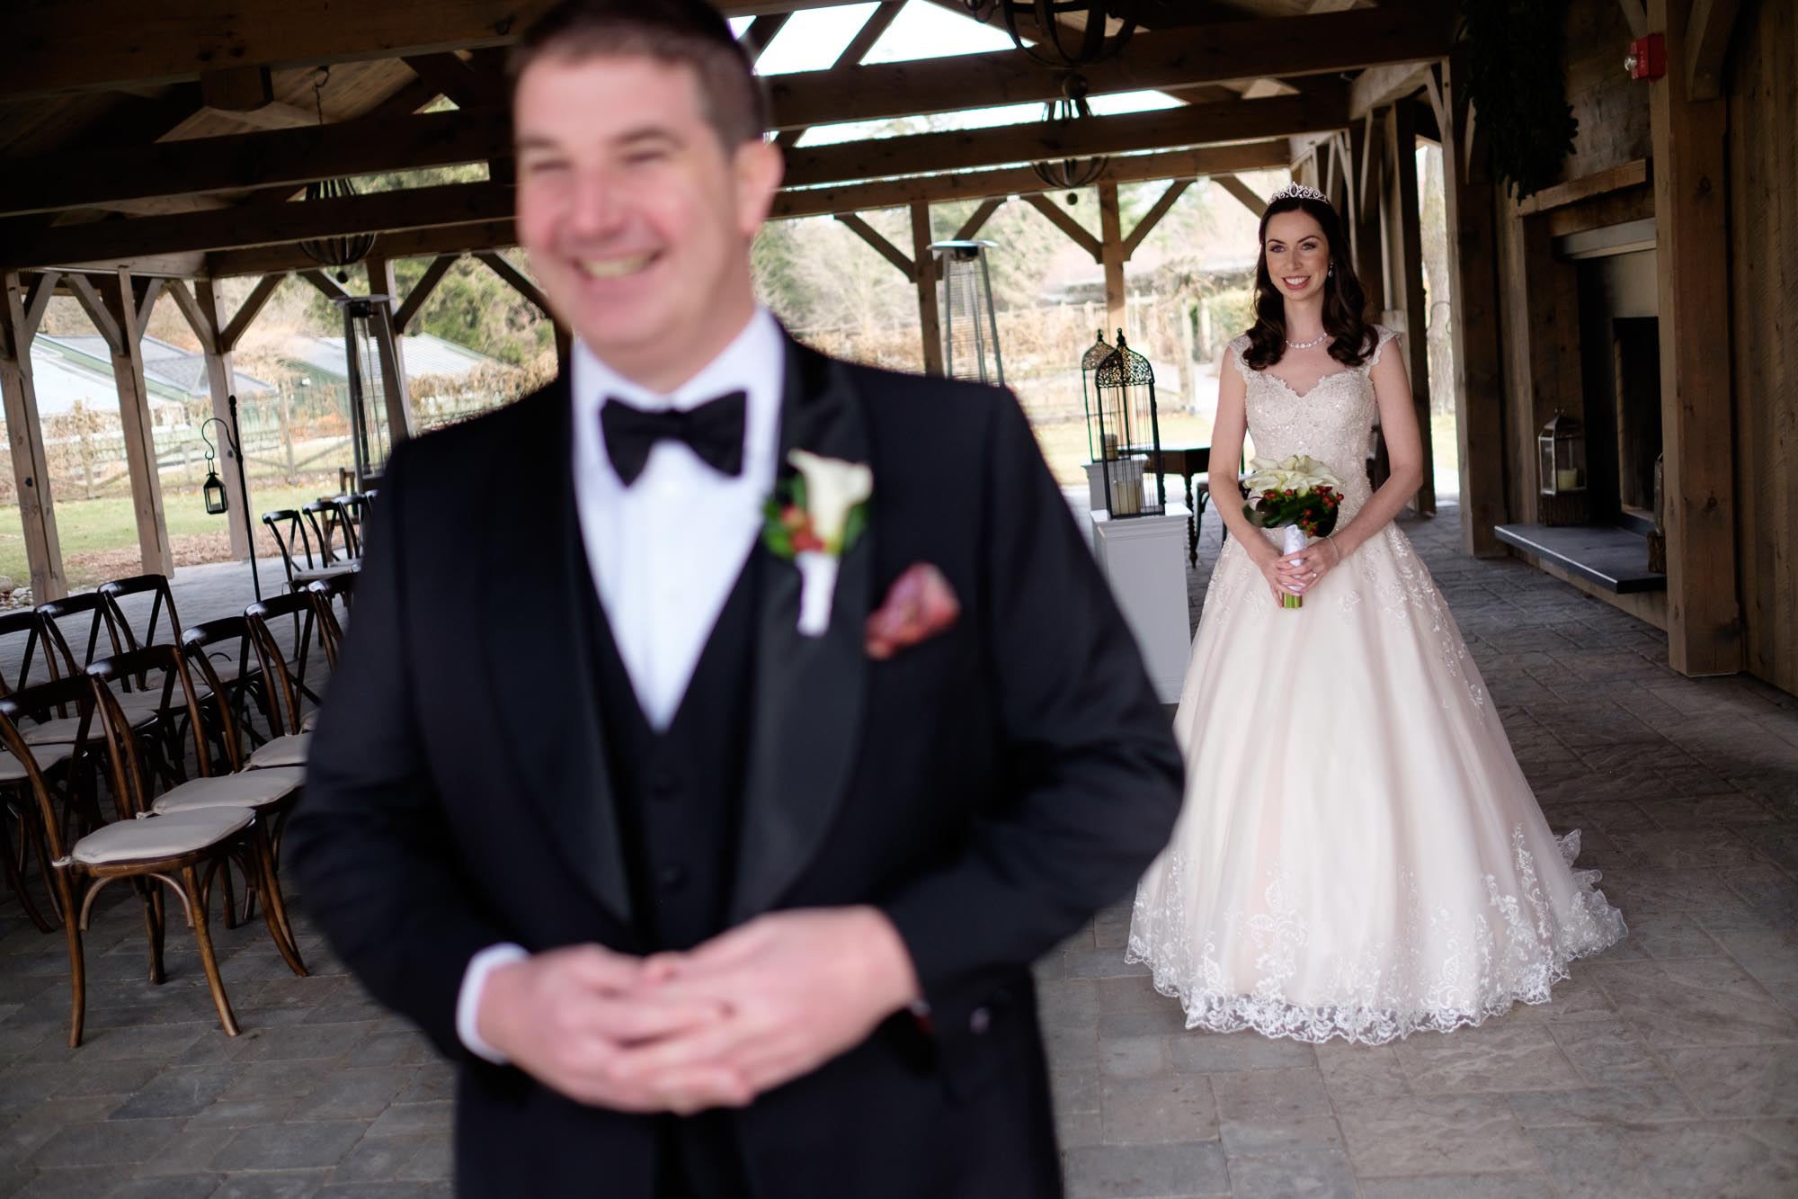
[[[1188,88],[1264,76],[1316,76],[1447,56],[1449,14],[1352,9],[1318,16],[1223,22],[1142,34],[1118,58],[1086,67],[1091,95]],[[1041,103],[1061,79],[1023,50],[910,63],[832,67],[768,81],[775,128],[886,121],[917,113]]]

